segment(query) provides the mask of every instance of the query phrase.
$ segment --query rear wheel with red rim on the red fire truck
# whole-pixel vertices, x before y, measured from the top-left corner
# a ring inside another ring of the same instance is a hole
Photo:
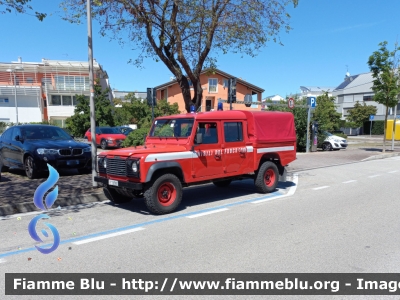
[[[270,161],[264,162],[257,172],[255,185],[259,193],[270,193],[279,181],[278,167]]]

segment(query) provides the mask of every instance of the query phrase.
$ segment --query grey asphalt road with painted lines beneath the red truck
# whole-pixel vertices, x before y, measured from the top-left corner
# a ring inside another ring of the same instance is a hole
[[[148,214],[141,201],[59,210],[51,224],[62,244],[48,255],[32,249],[33,215],[15,215],[0,221],[0,295],[10,272],[400,273],[399,182],[394,157],[300,172],[297,186],[272,196],[293,195],[264,202],[243,181],[187,189],[181,210],[167,216]]]

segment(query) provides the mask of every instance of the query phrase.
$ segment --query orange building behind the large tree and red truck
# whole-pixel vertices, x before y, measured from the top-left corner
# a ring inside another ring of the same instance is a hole
[[[227,100],[228,98],[228,80],[234,77],[221,70],[215,70],[212,74],[209,74],[207,70],[200,74],[200,84],[203,88],[203,99],[200,111],[217,110],[218,99]],[[169,103],[178,103],[179,110],[183,113],[186,112],[185,102],[178,82],[174,78],[170,78],[169,82],[156,86],[156,99],[166,99]],[[236,78],[236,100],[243,101],[245,95],[250,94],[253,102],[261,102],[261,94],[264,90],[257,87],[241,78]],[[191,86],[191,83],[189,82]],[[194,96],[194,89],[191,86],[191,95]],[[223,109],[229,110],[230,104],[224,103]],[[243,110],[261,110],[261,105],[252,105],[246,107],[244,104],[233,103],[233,109]]]

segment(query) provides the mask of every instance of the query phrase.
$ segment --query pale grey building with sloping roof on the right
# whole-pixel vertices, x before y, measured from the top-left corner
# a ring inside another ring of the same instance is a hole
[[[342,114],[343,120],[349,115],[349,110],[354,107],[357,101],[377,108],[374,120],[385,119],[386,108],[383,104],[373,101],[374,92],[372,86],[373,77],[371,72],[352,76],[348,72],[346,73],[344,81],[332,93],[336,97],[337,112]],[[389,114],[393,114],[392,109],[389,109]],[[400,105],[397,106],[397,115],[400,115]]]

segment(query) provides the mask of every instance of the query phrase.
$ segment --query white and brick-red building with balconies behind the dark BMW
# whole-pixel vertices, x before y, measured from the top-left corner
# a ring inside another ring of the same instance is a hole
[[[94,78],[108,88],[108,75],[96,60],[93,69]],[[19,58],[0,63],[0,121],[47,120],[64,127],[65,119],[74,114],[76,95],[90,96],[88,62]]]

